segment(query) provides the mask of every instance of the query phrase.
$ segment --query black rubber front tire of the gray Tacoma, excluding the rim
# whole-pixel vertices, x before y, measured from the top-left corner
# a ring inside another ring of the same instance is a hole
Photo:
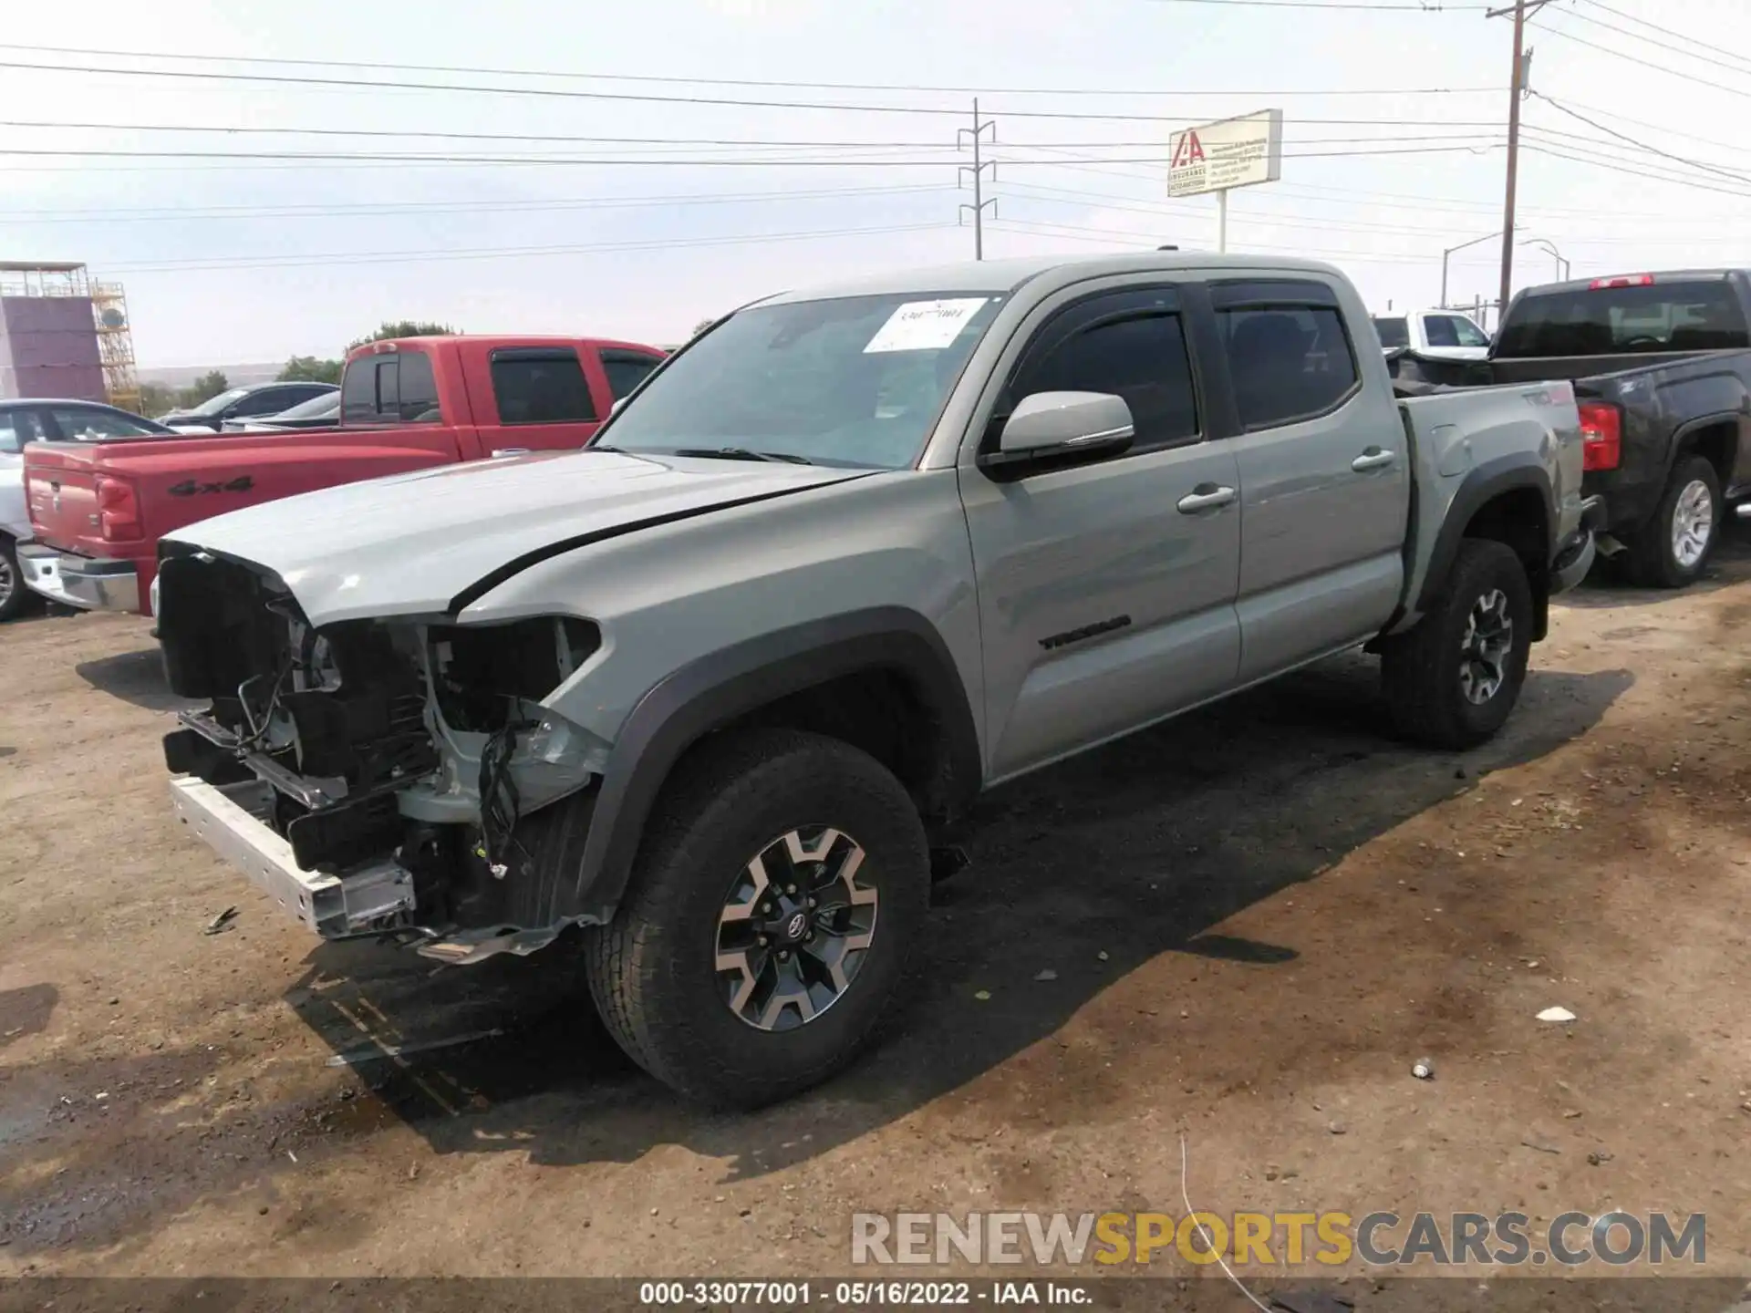
[[[851,986],[811,1021],[767,1031],[730,1010],[714,968],[725,898],[783,835],[832,826],[879,889]],[[930,907],[930,851],[911,797],[876,758],[798,730],[707,739],[651,811],[615,919],[585,931],[590,994],[627,1056],[688,1099],[756,1108],[846,1066],[893,1015]]]

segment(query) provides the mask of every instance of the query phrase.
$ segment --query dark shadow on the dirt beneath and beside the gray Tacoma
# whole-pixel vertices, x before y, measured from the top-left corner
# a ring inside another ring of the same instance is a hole
[[[1457,758],[1387,737],[1375,664],[1341,656],[1000,790],[968,825],[974,865],[937,889],[921,987],[891,1038],[760,1113],[702,1113],[643,1075],[597,1022],[574,944],[475,968],[331,944],[285,998],[375,1091],[357,1103],[441,1154],[576,1164],[681,1143],[756,1176],[975,1080],[1159,954],[1292,963],[1290,945],[1217,928],[1579,737],[1632,683],[1534,672],[1501,739]]]

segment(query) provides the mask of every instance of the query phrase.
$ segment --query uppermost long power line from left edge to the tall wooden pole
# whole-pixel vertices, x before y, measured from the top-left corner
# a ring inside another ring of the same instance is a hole
[[[1220,2],[1220,0],[1212,0]],[[1238,2],[1238,0],[1234,0]],[[1327,9],[1331,5],[1320,5]],[[1408,5],[1396,5],[1408,7]],[[1481,5],[1459,5],[1481,9]],[[650,74],[580,74],[555,68],[469,68],[462,65],[432,63],[373,63],[368,60],[282,60],[257,54],[180,54],[172,51],[100,51],[74,46],[18,46],[0,42],[0,51],[30,51],[37,54],[79,54],[105,60],[184,60],[194,63],[250,63],[278,65],[287,68],[375,68],[378,72],[401,74],[464,74],[469,77],[553,77],[592,82],[657,82],[669,86],[742,86],[742,88],[781,88],[793,91],[928,91],[939,95],[981,95],[981,96],[1431,96],[1452,95],[1466,96],[1478,93],[1494,95],[1501,88],[1403,88],[1403,89],[1357,89],[1336,88],[1331,91],[1163,91],[1161,88],[1124,91],[1114,88],[995,88],[995,86],[926,86],[918,82],[797,82],[758,77],[674,77]],[[32,65],[35,67],[35,65]],[[942,110],[960,112],[960,110]]]

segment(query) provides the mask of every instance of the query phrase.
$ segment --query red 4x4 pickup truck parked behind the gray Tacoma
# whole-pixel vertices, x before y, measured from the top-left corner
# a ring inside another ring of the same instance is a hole
[[[25,583],[82,609],[152,613],[158,539],[294,492],[583,446],[664,359],[585,338],[397,338],[354,348],[341,427],[32,443]]]

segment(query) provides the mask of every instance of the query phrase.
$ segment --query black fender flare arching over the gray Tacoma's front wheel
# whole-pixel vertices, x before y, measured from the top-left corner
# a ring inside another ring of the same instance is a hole
[[[781,697],[870,669],[902,672],[926,700],[947,749],[947,802],[970,802],[982,781],[972,704],[947,644],[923,614],[870,607],[760,634],[672,671],[632,707],[595,790],[566,900],[571,916],[613,916],[657,795],[699,739]]]

